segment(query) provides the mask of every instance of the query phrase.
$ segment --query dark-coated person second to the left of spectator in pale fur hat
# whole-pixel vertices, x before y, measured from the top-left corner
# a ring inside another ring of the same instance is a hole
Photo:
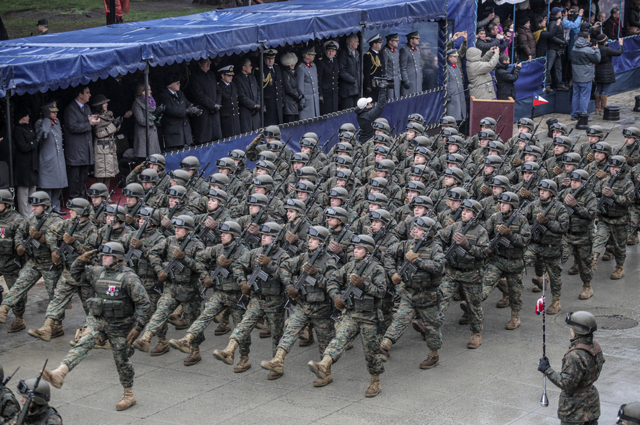
[[[240,61],[240,73],[235,79],[240,105],[240,132],[250,133],[260,128],[260,88],[253,75],[251,59]]]

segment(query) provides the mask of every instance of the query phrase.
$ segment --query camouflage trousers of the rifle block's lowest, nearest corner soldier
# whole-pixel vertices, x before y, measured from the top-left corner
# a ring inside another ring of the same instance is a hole
[[[379,354],[380,339],[378,337],[378,317],[376,311],[356,312],[347,310],[344,312],[336,329],[336,336],[324,350],[324,355],[337,362],[344,353],[347,345],[360,333],[364,359],[367,362],[367,370],[370,375],[380,375],[384,372],[384,365]]]

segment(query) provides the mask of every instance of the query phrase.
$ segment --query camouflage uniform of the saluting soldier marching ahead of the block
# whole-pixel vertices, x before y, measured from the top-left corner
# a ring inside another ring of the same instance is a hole
[[[72,370],[94,347],[96,339],[109,340],[120,384],[124,388],[131,388],[134,371],[129,357],[133,347],[127,344],[127,335],[134,326],[142,329],[147,322],[150,307],[147,291],[138,276],[122,262],[108,267],[96,267],[75,261],[71,265],[70,274],[81,285],[90,285],[96,296],[88,302],[91,306],[86,320],[88,333],[69,350],[62,363]],[[112,309],[107,313],[107,301],[113,304],[120,301],[123,309],[119,312]]]

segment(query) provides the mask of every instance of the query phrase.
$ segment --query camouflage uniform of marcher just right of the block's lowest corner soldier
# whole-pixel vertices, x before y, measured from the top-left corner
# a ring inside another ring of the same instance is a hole
[[[412,250],[416,243],[415,239],[398,242],[387,250],[385,257],[396,266],[397,270],[406,261],[405,254]],[[423,244],[417,253],[420,257],[416,259],[414,265],[418,271],[398,285],[400,305],[384,337],[395,344],[411,321],[419,315],[425,325],[427,347],[439,350],[442,348],[440,327],[444,322],[444,316],[438,303],[438,287],[444,271],[444,254],[442,247],[433,240]]]

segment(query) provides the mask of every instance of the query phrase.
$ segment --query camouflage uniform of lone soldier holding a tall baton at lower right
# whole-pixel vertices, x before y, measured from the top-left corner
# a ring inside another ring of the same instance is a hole
[[[600,395],[593,385],[600,376],[604,356],[593,335],[576,335],[562,359],[562,371],[548,368],[544,374],[562,390],[558,401],[561,424],[597,425]]]

